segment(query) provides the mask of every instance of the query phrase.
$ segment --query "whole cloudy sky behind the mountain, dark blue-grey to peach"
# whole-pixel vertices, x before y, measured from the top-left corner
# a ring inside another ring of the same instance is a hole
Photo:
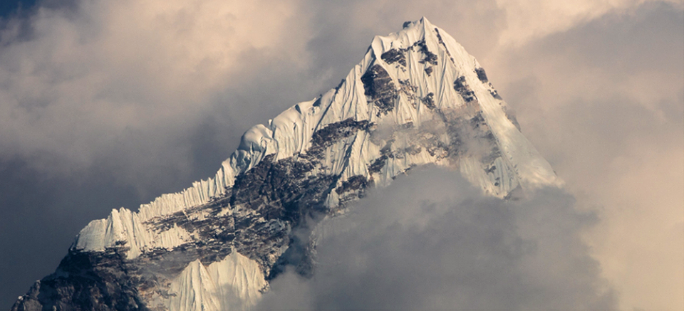
[[[684,309],[683,1],[244,2],[3,1],[0,304],[53,272],[89,221],[212,176],[249,127],[426,16],[477,58],[564,179],[553,197],[595,216],[572,231],[591,280],[623,310]],[[445,200],[433,203],[464,206]],[[492,221],[530,215],[512,213]]]

